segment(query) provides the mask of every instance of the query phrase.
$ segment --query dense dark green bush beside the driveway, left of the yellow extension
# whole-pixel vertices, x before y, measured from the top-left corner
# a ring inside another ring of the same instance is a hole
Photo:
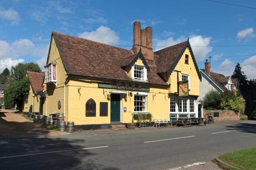
[[[29,92],[29,79],[24,77],[17,83],[11,84],[5,90],[5,108],[11,109],[17,105],[17,108],[22,111],[24,95]]]

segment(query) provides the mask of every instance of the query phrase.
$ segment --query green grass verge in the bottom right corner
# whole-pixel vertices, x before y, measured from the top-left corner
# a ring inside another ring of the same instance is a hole
[[[219,156],[219,159],[225,163],[241,169],[256,169],[256,148],[246,149],[237,152],[231,152]],[[218,164],[219,165],[219,164]],[[234,168],[224,168],[234,169]]]

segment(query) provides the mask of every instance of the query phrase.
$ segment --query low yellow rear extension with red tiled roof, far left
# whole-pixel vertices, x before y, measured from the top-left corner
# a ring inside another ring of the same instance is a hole
[[[39,95],[43,88],[45,74],[42,72],[27,71],[27,77],[29,78],[30,88],[28,94],[24,96],[23,112],[33,112],[39,114],[40,101],[44,100]],[[42,114],[42,112],[41,112]]]

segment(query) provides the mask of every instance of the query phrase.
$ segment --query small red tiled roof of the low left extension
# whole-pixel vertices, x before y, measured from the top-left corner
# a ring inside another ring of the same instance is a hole
[[[45,80],[44,72],[27,71],[27,75],[28,75],[29,82],[33,92],[37,93],[39,91],[42,91],[43,90],[42,84],[44,83],[44,80]]]

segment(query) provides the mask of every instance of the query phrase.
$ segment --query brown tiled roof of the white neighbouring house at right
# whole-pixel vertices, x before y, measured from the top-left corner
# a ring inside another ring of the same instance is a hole
[[[211,72],[207,74],[204,69],[200,69],[212,82],[214,82],[221,90],[227,91],[228,89],[222,84],[227,83],[230,77],[225,77],[222,74]]]

